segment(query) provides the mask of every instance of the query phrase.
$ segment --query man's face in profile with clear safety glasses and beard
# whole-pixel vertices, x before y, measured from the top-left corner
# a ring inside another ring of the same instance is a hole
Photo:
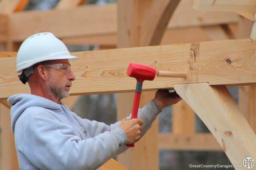
[[[53,60],[45,64],[48,70],[46,88],[58,101],[68,98],[72,81],[75,80],[73,72],[69,69],[68,59]]]

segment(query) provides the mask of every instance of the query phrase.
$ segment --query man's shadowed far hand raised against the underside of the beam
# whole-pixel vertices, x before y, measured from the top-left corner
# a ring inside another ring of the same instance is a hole
[[[178,103],[181,100],[180,96],[174,92],[169,92],[169,90],[157,90],[156,96],[153,101],[158,105],[160,109],[165,108]]]

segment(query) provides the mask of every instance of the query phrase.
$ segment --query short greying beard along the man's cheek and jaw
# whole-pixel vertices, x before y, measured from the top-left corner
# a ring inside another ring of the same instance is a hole
[[[69,91],[65,90],[66,84],[60,85],[56,79],[52,77],[52,75],[49,75],[49,79],[46,81],[46,88],[52,96],[60,101],[63,98],[68,98]]]

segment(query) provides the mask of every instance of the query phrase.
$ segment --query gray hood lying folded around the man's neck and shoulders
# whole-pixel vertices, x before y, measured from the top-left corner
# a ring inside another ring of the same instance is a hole
[[[29,107],[42,107],[56,112],[61,111],[59,104],[33,94],[14,94],[8,98],[11,107],[11,128],[14,133],[14,127],[19,116]]]

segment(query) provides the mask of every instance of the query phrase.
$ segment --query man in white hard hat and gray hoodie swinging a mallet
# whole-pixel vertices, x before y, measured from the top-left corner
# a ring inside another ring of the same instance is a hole
[[[61,103],[75,80],[69,63],[74,59],[52,33],[32,35],[19,48],[16,71],[31,90],[8,99],[20,169],[96,169],[138,141],[162,108],[180,100],[158,90],[138,119],[110,126],[82,119]]]

